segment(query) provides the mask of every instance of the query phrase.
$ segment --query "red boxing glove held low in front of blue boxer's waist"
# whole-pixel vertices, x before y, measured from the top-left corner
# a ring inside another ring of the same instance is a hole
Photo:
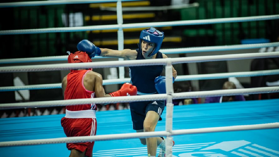
[[[133,96],[137,95],[137,87],[133,86],[131,83],[124,83],[122,87],[116,91],[110,93],[111,96]]]

